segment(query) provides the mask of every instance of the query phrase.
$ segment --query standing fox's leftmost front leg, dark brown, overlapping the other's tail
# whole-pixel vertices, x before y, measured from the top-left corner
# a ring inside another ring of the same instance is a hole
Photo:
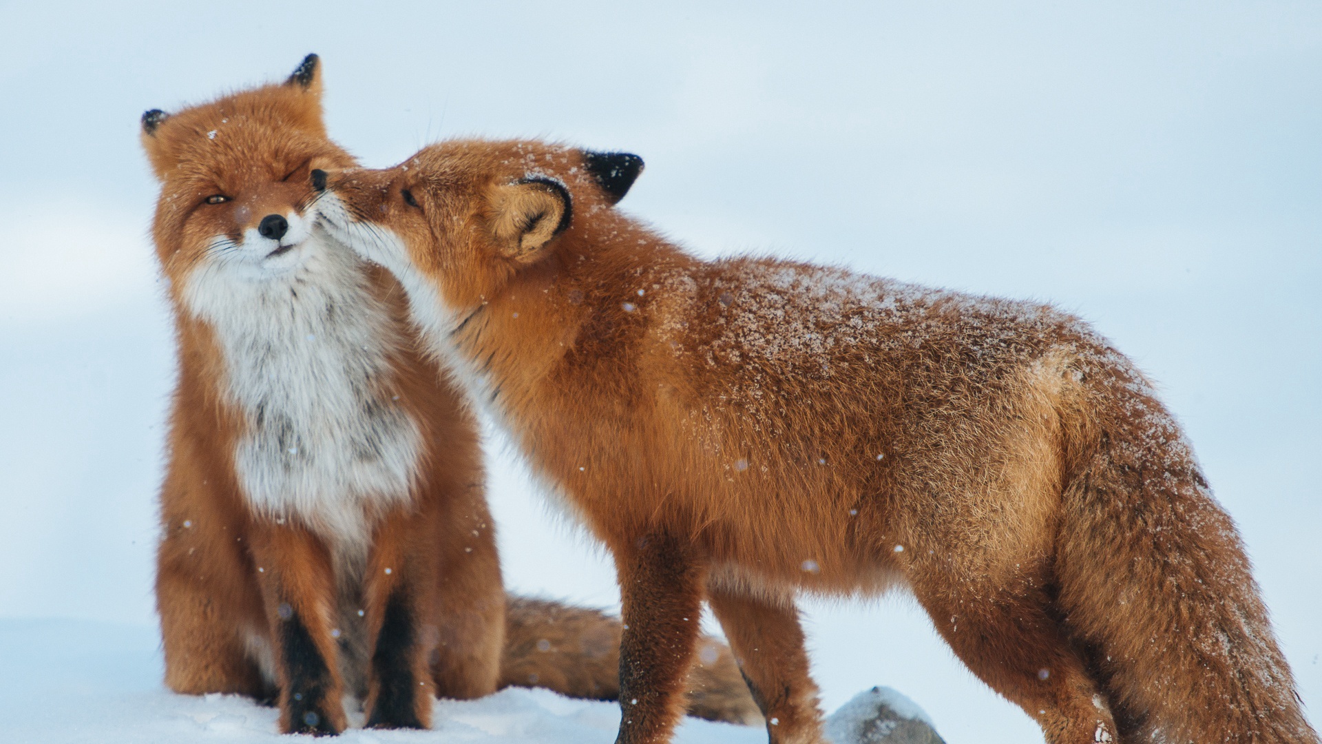
[[[649,535],[615,551],[624,605],[617,744],[669,741],[698,639],[705,571],[689,545]]]

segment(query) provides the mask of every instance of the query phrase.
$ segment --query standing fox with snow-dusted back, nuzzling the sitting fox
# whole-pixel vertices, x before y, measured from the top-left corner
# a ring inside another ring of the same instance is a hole
[[[703,602],[769,741],[822,741],[796,597],[903,589],[1051,744],[1317,744],[1233,522],[1110,342],[1044,303],[699,259],[616,208],[641,171],[455,139],[309,173],[613,556],[619,743],[669,740]]]

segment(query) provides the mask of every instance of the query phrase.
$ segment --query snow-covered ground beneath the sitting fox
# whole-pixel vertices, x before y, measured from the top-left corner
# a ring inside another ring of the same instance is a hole
[[[5,676],[0,695],[7,744],[175,744],[290,741],[275,708],[235,695],[175,695],[161,688],[155,629],[116,624],[0,620]],[[12,665],[12,666],[11,666]],[[352,718],[352,716],[350,716]],[[361,727],[362,716],[352,720]],[[472,702],[436,702],[431,731],[350,729],[345,744],[464,741],[609,744],[620,725],[613,703],[510,688]],[[677,744],[756,744],[760,728],[685,720]]]

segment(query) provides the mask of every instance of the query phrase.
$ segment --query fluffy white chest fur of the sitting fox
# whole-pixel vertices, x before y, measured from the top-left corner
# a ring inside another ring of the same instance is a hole
[[[410,498],[422,436],[393,393],[399,343],[360,259],[321,233],[272,273],[212,261],[189,310],[225,355],[225,393],[245,413],[234,466],[254,511],[365,547],[382,507]]]

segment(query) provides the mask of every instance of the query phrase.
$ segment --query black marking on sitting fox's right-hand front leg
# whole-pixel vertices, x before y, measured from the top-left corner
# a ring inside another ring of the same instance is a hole
[[[424,728],[414,707],[419,687],[412,673],[415,643],[412,613],[403,594],[395,592],[386,602],[386,617],[371,655],[378,688],[368,728]]]

